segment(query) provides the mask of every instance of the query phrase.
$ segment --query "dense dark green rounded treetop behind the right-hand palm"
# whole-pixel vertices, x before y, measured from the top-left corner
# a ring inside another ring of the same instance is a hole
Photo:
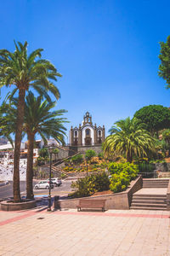
[[[145,124],[147,131],[153,136],[158,131],[170,127],[170,110],[161,105],[150,105],[140,108],[134,117]]]

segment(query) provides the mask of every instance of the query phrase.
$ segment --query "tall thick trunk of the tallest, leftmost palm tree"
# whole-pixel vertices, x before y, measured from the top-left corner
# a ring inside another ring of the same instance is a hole
[[[14,202],[20,202],[20,143],[22,138],[22,125],[24,122],[25,95],[26,90],[20,89],[14,140]]]

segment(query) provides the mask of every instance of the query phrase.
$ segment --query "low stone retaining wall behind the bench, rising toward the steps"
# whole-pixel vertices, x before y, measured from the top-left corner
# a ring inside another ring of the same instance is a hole
[[[142,189],[142,177],[138,177],[132,181],[130,187],[123,192],[110,194],[110,195],[96,195],[91,197],[83,197],[83,199],[105,199],[105,209],[129,209],[133,197],[133,193]],[[59,200],[59,207],[76,209],[79,198]]]

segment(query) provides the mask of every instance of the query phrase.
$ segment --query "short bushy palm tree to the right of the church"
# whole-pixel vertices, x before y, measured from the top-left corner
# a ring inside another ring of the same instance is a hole
[[[122,119],[111,127],[111,135],[103,145],[105,153],[116,153],[126,156],[128,162],[133,157],[144,157],[155,151],[155,139],[144,130],[144,124],[139,119]]]

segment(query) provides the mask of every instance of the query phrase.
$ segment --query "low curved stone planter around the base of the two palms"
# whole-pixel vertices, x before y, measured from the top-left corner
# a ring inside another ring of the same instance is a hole
[[[36,201],[22,201],[19,203],[14,203],[13,201],[2,201],[1,210],[2,211],[20,211],[25,209],[31,209],[36,207]]]

